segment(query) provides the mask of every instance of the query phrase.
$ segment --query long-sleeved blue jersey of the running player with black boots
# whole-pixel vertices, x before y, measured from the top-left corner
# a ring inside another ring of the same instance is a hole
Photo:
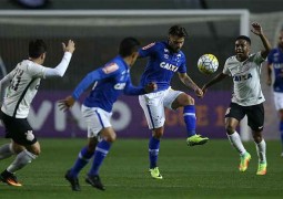
[[[100,107],[107,112],[112,111],[113,103],[122,93],[127,95],[145,93],[144,88],[132,85],[129,66],[121,56],[114,57],[104,66],[89,73],[75,87],[72,97],[78,100],[91,84],[94,84],[93,88],[83,104],[88,107]]]

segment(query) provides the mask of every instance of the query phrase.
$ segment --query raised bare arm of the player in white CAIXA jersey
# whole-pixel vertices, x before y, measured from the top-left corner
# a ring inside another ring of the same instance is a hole
[[[263,33],[263,30],[262,30],[262,27],[260,23],[257,22],[253,22],[252,23],[252,32],[256,35],[259,35],[262,40],[262,44],[264,46],[263,50],[261,50],[261,54],[262,54],[262,57],[266,57],[272,49],[271,44],[270,44],[270,41],[267,40],[267,38],[264,35]]]

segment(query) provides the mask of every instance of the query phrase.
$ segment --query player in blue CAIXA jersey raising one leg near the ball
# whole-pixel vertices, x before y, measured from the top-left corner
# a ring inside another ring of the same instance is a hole
[[[154,93],[139,96],[152,136],[149,140],[150,175],[152,178],[162,179],[158,167],[160,139],[164,134],[164,107],[178,109],[183,107],[183,118],[186,126],[189,146],[203,145],[209,138],[195,133],[196,117],[192,96],[181,91],[171,88],[171,78],[178,72],[181,82],[193,90],[198,97],[202,97],[202,90],[186,74],[185,55],[181,51],[188,33],[181,25],[169,29],[168,41],[151,43],[139,51],[140,57],[149,57],[140,84],[146,85],[155,82],[158,90]]]

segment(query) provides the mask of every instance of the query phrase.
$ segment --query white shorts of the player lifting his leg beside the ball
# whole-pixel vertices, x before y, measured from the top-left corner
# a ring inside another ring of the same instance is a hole
[[[140,105],[144,112],[150,129],[164,126],[164,107],[172,109],[174,100],[183,92],[174,91],[169,87],[165,91],[149,93],[139,96]]]

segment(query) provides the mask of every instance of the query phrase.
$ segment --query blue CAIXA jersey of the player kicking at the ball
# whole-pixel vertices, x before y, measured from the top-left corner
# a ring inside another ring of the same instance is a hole
[[[139,56],[149,56],[140,85],[145,86],[151,82],[155,82],[158,84],[155,92],[166,90],[175,72],[186,73],[184,53],[182,51],[171,52],[166,42],[151,43],[140,49]]]

